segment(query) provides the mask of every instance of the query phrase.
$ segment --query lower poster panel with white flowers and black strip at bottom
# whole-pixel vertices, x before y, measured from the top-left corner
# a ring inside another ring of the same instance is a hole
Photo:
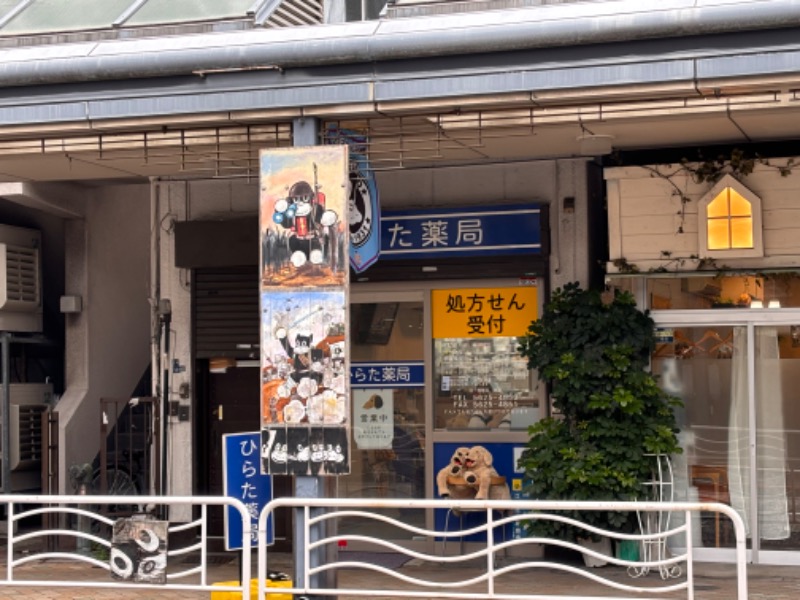
[[[349,471],[345,306],[344,290],[261,293],[261,464],[265,473]]]

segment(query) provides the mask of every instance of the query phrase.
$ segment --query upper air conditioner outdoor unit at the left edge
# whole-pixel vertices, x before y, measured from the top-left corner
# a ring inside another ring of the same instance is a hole
[[[0,331],[42,331],[41,232],[0,225]]]

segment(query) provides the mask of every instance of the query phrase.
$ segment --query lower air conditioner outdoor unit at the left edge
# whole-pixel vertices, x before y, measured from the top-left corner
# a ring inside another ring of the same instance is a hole
[[[53,386],[49,383],[12,383],[9,390],[11,490],[38,488],[41,484],[42,413],[51,404]],[[5,406],[4,393],[0,384],[0,409]],[[5,432],[0,432],[1,435]],[[3,459],[0,444],[0,460]]]

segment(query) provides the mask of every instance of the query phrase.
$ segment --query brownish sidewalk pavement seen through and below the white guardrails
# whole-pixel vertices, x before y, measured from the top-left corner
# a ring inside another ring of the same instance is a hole
[[[344,559],[344,557],[343,557]],[[288,554],[270,555],[269,569],[292,572],[293,558]],[[217,564],[221,562],[221,564]],[[502,566],[500,564],[499,566]],[[76,580],[86,581],[96,579],[108,581],[108,573],[97,567],[88,567],[92,572],[87,575],[87,565],[63,562],[49,559],[18,567],[15,577],[18,579],[27,576],[45,580]],[[403,565],[400,572],[410,576],[423,576],[425,578],[450,581],[455,577],[467,578],[470,575],[468,567],[454,565],[432,565],[413,559]],[[628,583],[631,581],[626,570],[617,566],[606,566],[602,569],[590,569],[598,575],[613,579],[614,581]],[[602,571],[602,573],[600,572]],[[255,566],[254,566],[255,572]],[[361,569],[343,570],[339,573],[340,587],[358,589],[386,589],[382,581],[385,576],[380,573]],[[236,560],[212,561],[209,566],[209,582],[238,581],[239,565]],[[653,572],[646,576],[648,583],[664,585],[658,573]],[[397,587],[397,584],[394,584]],[[796,600],[800,598],[800,568],[753,566],[748,569],[748,586],[750,600]],[[553,596],[626,596],[626,593],[611,588],[604,588],[588,579],[576,577],[574,574],[560,572],[551,568],[517,571],[508,574],[503,579],[503,592],[525,595],[553,595]],[[375,594],[369,596],[371,600],[389,600],[395,598],[389,595]],[[634,597],[634,595],[631,595]],[[686,592],[675,593],[669,598],[686,598]],[[199,591],[154,591],[150,589],[131,590],[118,588],[87,588],[87,587],[0,587],[0,600],[160,600],[160,599],[210,599],[209,592]],[[355,598],[354,596],[341,596],[341,598]],[[363,597],[362,597],[363,598]],[[736,569],[734,565],[718,563],[695,564],[695,598],[697,600],[734,600],[736,598]]]

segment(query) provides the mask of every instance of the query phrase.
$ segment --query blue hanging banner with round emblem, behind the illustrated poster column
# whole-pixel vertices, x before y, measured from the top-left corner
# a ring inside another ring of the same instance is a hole
[[[381,212],[378,185],[369,164],[367,136],[349,129],[331,127],[328,140],[346,143],[350,148],[350,193],[347,222],[350,228],[350,267],[363,273],[381,253]]]

